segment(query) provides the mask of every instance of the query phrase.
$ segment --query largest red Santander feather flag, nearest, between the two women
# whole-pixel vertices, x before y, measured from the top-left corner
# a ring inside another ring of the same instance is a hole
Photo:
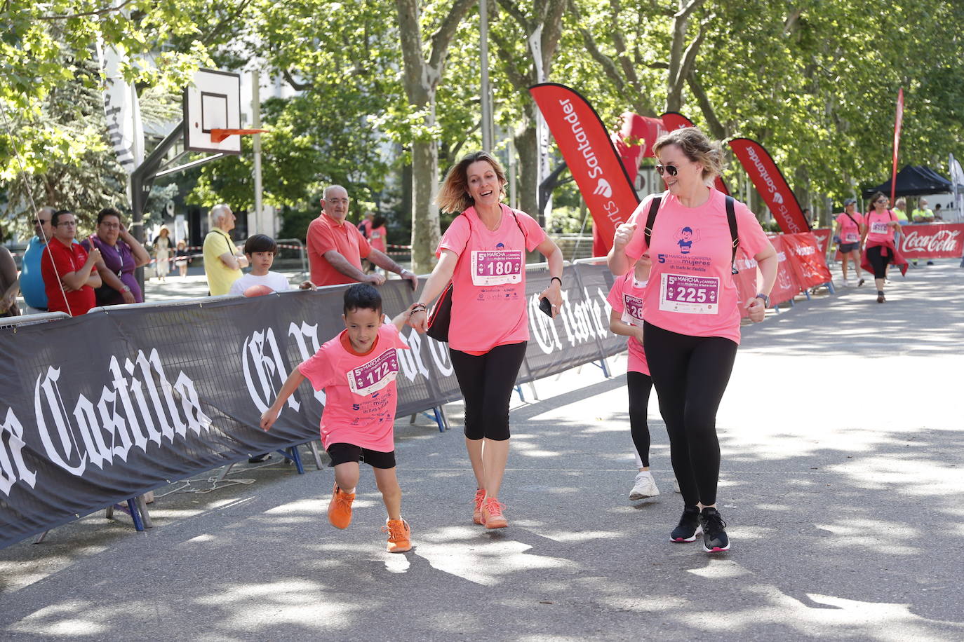
[[[626,167],[596,110],[576,91],[541,83],[530,87],[529,93],[593,217],[594,233],[598,232],[595,236],[602,244],[600,248],[594,244],[594,253],[602,249],[604,254],[612,246],[616,226],[626,222],[639,204]]]

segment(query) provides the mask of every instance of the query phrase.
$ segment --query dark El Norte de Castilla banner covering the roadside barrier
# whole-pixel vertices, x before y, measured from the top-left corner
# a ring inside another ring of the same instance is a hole
[[[566,305],[538,310],[549,284],[528,273],[531,339],[520,381],[626,347],[609,332],[604,265],[566,268]],[[255,298],[94,312],[0,327],[0,548],[177,479],[318,437],[323,392],[308,383],[270,432],[258,427],[285,377],[344,329],[345,286]],[[395,315],[401,281],[380,288]],[[460,398],[448,348],[406,327],[398,415]]]

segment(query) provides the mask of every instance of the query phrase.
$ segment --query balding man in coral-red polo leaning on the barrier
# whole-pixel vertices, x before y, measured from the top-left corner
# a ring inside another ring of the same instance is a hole
[[[355,225],[345,224],[348,204],[348,192],[343,187],[332,185],[325,188],[321,198],[321,215],[308,225],[311,282],[318,287],[356,281],[374,285],[385,283],[385,277],[381,274],[365,274],[362,271],[362,258],[366,258],[379,268],[408,279],[415,290],[418,277],[413,272],[403,269],[388,255],[368,244]]]

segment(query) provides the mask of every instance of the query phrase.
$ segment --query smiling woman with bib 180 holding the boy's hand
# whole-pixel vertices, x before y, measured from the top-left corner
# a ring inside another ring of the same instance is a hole
[[[426,305],[452,282],[449,355],[466,403],[466,447],[476,491],[472,520],[508,526],[498,501],[509,456],[509,398],[529,339],[525,252],[538,249],[549,262],[552,316],[562,306],[562,252],[535,219],[500,200],[505,171],[495,157],[474,152],[452,167],[439,207],[461,212],[442,236],[439,263],[415,305],[412,325],[428,328]]]

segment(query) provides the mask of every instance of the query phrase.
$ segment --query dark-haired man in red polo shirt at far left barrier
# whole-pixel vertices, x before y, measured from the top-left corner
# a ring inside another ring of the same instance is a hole
[[[100,262],[100,250],[94,248],[88,253],[83,245],[73,242],[77,236],[77,218],[73,212],[54,212],[50,224],[54,236],[40,259],[47,310],[79,317],[96,305],[94,288],[99,288],[101,281],[94,268]]]

